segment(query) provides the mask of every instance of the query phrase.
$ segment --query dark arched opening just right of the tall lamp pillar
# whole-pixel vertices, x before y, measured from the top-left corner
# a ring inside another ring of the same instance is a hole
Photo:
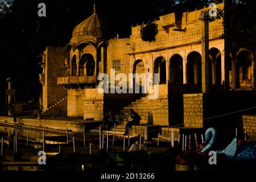
[[[221,85],[221,52],[215,47],[209,49],[209,84]]]

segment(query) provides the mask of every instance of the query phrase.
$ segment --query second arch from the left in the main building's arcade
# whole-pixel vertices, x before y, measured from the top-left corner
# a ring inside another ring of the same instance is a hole
[[[166,84],[166,59],[160,56],[157,57],[154,61],[154,73],[159,73],[158,82],[159,84]]]

